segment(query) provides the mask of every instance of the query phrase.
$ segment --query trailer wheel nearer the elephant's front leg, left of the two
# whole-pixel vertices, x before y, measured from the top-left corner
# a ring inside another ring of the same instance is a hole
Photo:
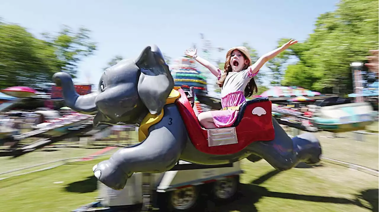
[[[168,209],[170,211],[191,211],[199,204],[199,189],[196,186],[187,186],[173,190],[168,194]]]

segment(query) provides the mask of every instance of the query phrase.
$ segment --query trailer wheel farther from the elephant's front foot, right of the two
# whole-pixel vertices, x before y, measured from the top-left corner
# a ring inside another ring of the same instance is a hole
[[[240,176],[228,177],[218,180],[213,184],[213,197],[218,201],[232,200],[238,192]]]

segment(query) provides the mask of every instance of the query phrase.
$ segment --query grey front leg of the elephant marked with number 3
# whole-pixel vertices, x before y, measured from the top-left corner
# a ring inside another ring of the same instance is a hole
[[[124,147],[110,159],[93,167],[100,182],[112,189],[124,188],[135,172],[159,173],[170,170],[185,148],[187,133],[174,104],[165,106],[164,117],[149,128],[149,135],[140,144]]]

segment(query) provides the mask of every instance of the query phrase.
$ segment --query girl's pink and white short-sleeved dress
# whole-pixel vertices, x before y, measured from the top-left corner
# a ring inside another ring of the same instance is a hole
[[[221,70],[218,69],[218,80],[221,78],[221,74]],[[251,66],[239,72],[229,72],[221,88],[222,108],[240,106],[244,103],[246,101],[244,96],[246,85],[257,74],[258,71],[255,74],[251,73]],[[233,125],[237,119],[238,111],[227,109],[211,111],[211,114],[215,125],[218,128],[224,128]]]

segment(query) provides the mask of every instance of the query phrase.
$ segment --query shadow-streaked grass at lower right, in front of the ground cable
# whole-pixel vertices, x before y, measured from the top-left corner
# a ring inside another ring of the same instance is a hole
[[[243,161],[240,195],[215,211],[377,211],[379,179],[342,166],[294,168],[277,172],[265,161]]]

